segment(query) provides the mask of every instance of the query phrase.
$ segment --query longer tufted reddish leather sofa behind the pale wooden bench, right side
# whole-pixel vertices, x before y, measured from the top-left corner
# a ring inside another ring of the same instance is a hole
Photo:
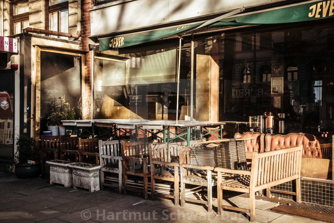
[[[285,149],[299,144],[303,145],[302,157],[322,158],[319,140],[314,135],[304,133],[289,133],[287,135],[265,136],[265,151]]]

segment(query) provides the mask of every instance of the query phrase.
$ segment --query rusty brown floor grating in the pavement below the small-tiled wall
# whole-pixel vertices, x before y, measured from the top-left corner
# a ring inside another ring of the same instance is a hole
[[[249,198],[249,194],[241,194],[239,197]],[[288,199],[278,199],[277,197],[262,197],[255,196],[257,200],[279,203],[280,206],[272,208],[272,211],[285,212],[292,215],[298,215],[314,220],[333,222],[334,223],[334,207],[323,205],[307,204],[304,202],[298,203]],[[305,210],[307,209],[307,210]]]

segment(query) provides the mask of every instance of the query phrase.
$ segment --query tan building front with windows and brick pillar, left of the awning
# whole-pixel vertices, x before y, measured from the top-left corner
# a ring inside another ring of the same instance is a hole
[[[80,118],[77,103],[91,86],[87,37],[92,6],[81,0],[1,1],[0,36],[18,44],[14,53],[0,52],[1,159],[11,160],[18,135],[38,140],[61,97]]]

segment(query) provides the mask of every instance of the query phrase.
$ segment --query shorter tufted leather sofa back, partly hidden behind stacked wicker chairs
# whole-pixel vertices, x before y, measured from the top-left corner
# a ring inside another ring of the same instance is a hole
[[[253,137],[254,139],[245,140],[245,149],[246,152],[264,152],[265,145],[264,145],[264,138],[265,134],[261,134],[259,132],[245,132],[235,133],[234,138],[248,138]]]

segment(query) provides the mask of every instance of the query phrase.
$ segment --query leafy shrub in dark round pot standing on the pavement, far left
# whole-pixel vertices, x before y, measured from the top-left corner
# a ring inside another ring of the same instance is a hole
[[[19,179],[29,179],[38,177],[41,173],[40,162],[36,151],[36,140],[26,135],[19,135],[16,138],[16,152],[13,164],[15,165],[15,175]]]

